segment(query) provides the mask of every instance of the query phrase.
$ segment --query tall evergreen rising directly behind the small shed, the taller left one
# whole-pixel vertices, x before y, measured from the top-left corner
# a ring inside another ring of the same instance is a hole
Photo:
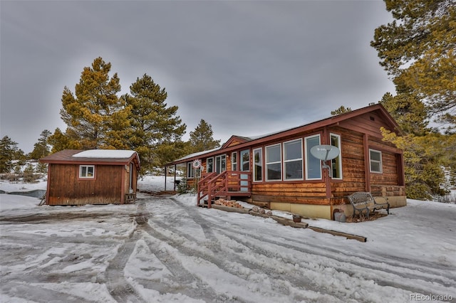
[[[129,108],[117,96],[120,80],[117,73],[109,77],[110,69],[110,63],[96,58],[91,68],[83,69],[74,95],[64,88],[61,117],[68,126],[66,136],[72,145],[80,144],[82,149],[125,147],[127,138],[116,134],[123,127],[115,122],[128,115]]]

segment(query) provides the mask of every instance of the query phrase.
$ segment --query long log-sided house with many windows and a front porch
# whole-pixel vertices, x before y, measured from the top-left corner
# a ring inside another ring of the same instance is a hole
[[[351,215],[347,196],[356,191],[405,206],[403,151],[383,142],[380,127],[400,134],[393,117],[375,104],[273,134],[232,136],[218,149],[167,166],[186,167],[187,184],[198,184],[198,200],[236,198],[311,218],[333,218],[336,208]],[[340,154],[323,163],[310,152],[321,144]]]

